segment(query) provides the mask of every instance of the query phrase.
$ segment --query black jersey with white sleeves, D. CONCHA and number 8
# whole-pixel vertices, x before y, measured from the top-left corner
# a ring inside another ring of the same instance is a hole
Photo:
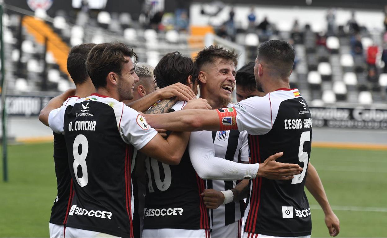
[[[48,122],[65,136],[74,181],[67,226],[134,237],[132,158],[156,130],[137,111],[97,94],[68,101]]]

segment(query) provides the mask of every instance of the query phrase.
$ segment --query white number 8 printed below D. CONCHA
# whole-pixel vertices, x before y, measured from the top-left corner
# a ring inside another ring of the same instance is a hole
[[[79,146],[82,145],[82,152],[79,154]],[[86,165],[86,157],[87,152],[89,151],[89,142],[87,142],[87,138],[84,135],[77,135],[74,140],[73,144],[73,156],[74,156],[74,163],[73,163],[73,169],[75,178],[77,179],[77,182],[79,186],[84,187],[87,185],[87,182],[89,182],[89,179],[87,178],[87,165]],[[82,169],[82,177],[78,177],[78,167]]]

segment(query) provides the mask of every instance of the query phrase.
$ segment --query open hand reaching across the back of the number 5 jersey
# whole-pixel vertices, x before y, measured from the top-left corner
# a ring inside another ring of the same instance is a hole
[[[281,157],[284,152],[279,152],[271,155],[262,164],[259,164],[257,177],[265,177],[267,179],[289,180],[293,179],[296,174],[301,174],[302,168],[298,164],[284,164],[276,162],[276,159]]]

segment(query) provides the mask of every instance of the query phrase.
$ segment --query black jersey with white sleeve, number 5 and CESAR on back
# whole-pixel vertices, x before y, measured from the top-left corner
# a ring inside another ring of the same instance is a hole
[[[312,139],[312,118],[298,89],[278,89],[235,105],[238,130],[246,130],[250,163],[262,163],[283,151],[276,161],[299,164],[301,174],[288,181],[258,177],[250,181],[245,231],[270,236],[306,236],[312,221],[304,192]]]

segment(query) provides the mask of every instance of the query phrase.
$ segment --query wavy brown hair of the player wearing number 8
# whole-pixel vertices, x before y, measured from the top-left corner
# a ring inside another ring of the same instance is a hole
[[[121,76],[123,64],[129,62],[125,56],[134,57],[134,63],[137,62],[137,54],[123,43],[102,43],[91,49],[86,68],[95,88],[106,87],[110,72]]]

